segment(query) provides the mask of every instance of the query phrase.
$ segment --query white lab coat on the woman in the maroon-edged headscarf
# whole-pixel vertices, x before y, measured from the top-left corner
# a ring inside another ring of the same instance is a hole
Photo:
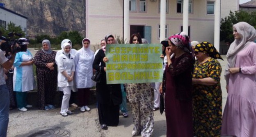
[[[76,88],[91,88],[95,82],[91,80],[93,75],[92,64],[94,52],[82,47],[75,54],[75,82]]]

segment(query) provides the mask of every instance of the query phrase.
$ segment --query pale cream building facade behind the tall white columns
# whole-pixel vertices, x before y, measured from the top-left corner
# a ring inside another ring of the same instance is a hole
[[[98,44],[105,34],[123,37],[130,27],[130,35],[140,33],[151,43],[160,43],[161,0],[86,0],[86,37],[91,44]],[[219,22],[229,11],[239,9],[239,0],[184,0],[188,2],[188,35],[199,42],[214,43],[216,3],[219,5]],[[166,0],[165,39],[183,31],[183,0]],[[127,5],[129,4],[129,6]],[[187,3],[185,3],[187,4]],[[124,7],[124,8],[123,8]],[[129,7],[129,13],[127,10]],[[124,15],[125,13],[125,15]],[[129,26],[124,27],[123,19],[129,16]],[[126,38],[126,42],[129,37]]]

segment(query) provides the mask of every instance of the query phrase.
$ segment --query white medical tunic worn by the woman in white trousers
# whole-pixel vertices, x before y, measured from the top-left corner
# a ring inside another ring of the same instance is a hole
[[[58,62],[58,87],[73,86],[73,81],[68,82],[68,79],[62,74],[66,71],[68,75],[71,75],[72,71],[75,71],[74,56],[71,55],[70,58],[60,54],[57,58]]]

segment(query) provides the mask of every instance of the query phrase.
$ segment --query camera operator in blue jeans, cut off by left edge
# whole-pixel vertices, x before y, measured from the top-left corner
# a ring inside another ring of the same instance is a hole
[[[0,45],[5,42],[0,41]],[[9,70],[14,64],[16,53],[11,54],[8,60],[5,53],[0,49],[0,137],[7,136],[7,127],[9,122],[9,91],[5,84],[4,68]]]

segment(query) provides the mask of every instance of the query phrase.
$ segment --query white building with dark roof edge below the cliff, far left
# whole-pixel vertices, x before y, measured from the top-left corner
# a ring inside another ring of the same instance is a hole
[[[0,27],[6,28],[7,24],[12,22],[16,24],[16,26],[21,26],[21,29],[27,37],[27,17],[6,9],[4,5],[5,4],[0,3]]]

